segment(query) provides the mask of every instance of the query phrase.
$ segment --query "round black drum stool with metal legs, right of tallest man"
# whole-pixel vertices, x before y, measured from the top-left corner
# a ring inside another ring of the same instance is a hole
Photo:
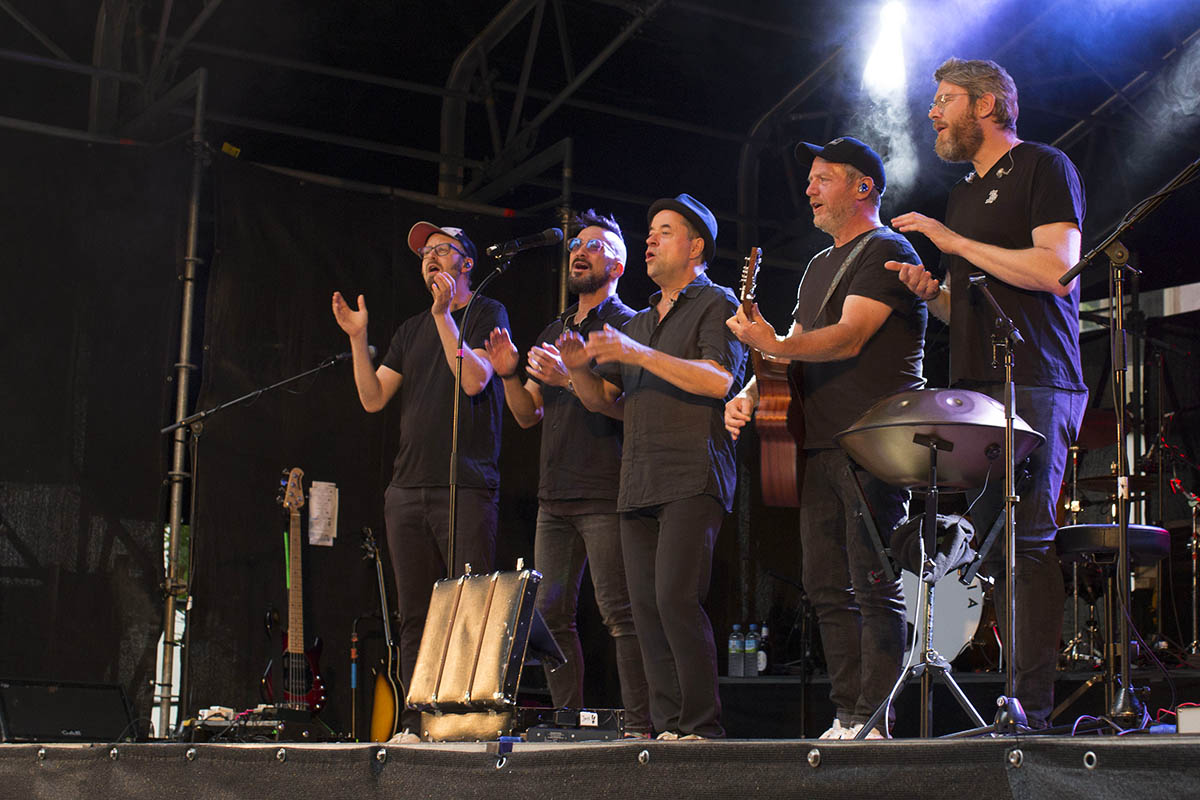
[[[1129,654],[1129,643],[1120,642],[1114,619],[1126,620],[1128,604],[1123,604],[1120,584],[1126,585],[1126,597],[1128,597],[1129,572],[1122,572],[1122,549],[1127,548],[1128,558],[1134,564],[1156,564],[1171,552],[1171,536],[1162,528],[1153,525],[1128,524],[1127,533],[1122,536],[1121,525],[1093,524],[1093,525],[1067,525],[1058,529],[1057,547],[1058,557],[1075,564],[1080,561],[1094,564],[1104,570],[1104,673],[1093,675],[1082,686],[1076,688],[1068,698],[1050,712],[1054,721],[1066,711],[1075,700],[1084,696],[1088,688],[1098,682],[1104,682],[1104,703],[1109,709],[1120,704],[1124,693],[1130,698],[1130,703],[1138,703],[1132,697],[1128,675],[1129,664],[1124,662]],[[1122,625],[1122,628],[1126,628]],[[1121,662],[1122,679],[1117,679],[1117,663]],[[1116,714],[1109,716],[1116,717]]]

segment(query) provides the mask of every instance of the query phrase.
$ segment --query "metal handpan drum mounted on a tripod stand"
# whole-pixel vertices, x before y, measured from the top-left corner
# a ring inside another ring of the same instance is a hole
[[[881,399],[834,440],[875,477],[907,489],[925,492],[922,541],[926,554],[936,553],[937,501],[942,491],[976,488],[986,482],[991,462],[1000,457],[1000,440],[1012,425],[1014,457],[1024,459],[1043,441],[1024,420],[1006,422],[1004,407],[979,392],[958,389],[920,389]],[[905,669],[888,698],[863,726],[859,738],[887,714],[910,678],[920,676],[920,735],[932,735],[932,681],[941,676],[954,699],[979,728],[988,727],[950,674],[949,662],[935,649],[935,585],[920,581],[923,652]],[[1009,618],[1012,619],[1012,618]],[[1008,712],[1006,698],[1002,712]]]

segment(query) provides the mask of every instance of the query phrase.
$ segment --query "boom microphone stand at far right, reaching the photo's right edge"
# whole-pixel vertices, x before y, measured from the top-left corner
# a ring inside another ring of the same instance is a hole
[[[1126,271],[1134,271],[1129,266],[1129,251],[1121,243],[1121,235],[1133,228],[1133,225],[1150,216],[1163,200],[1190,184],[1200,173],[1200,158],[1184,167],[1163,188],[1158,190],[1146,199],[1138,203],[1126,213],[1124,219],[1117,225],[1108,239],[1092,248],[1084,255],[1075,266],[1070,267],[1060,278],[1061,285],[1068,285],[1084,271],[1092,259],[1100,253],[1109,259],[1109,299],[1111,323],[1109,325],[1109,348],[1112,361],[1112,393],[1114,411],[1117,417],[1117,600],[1121,606],[1118,636],[1120,642],[1114,649],[1110,644],[1110,652],[1121,662],[1120,686],[1112,696],[1112,705],[1109,709],[1109,717],[1120,724],[1129,726],[1140,722],[1141,704],[1134,697],[1129,687],[1129,458],[1126,449],[1126,372],[1128,369],[1128,355],[1126,351],[1126,321],[1124,321],[1124,275]]]

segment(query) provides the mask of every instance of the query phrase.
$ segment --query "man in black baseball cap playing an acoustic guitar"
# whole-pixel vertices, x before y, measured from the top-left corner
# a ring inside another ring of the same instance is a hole
[[[882,531],[905,518],[908,493],[854,464],[833,435],[876,401],[924,385],[925,305],[907,290],[896,291],[895,277],[883,267],[916,253],[880,223],[887,176],[878,155],[858,139],[840,137],[823,148],[802,143],[796,157],[809,166],[812,221],[833,236],[833,247],[809,261],[787,336],[776,336],[757,306],[749,314],[739,308],[728,325],[750,347],[790,360],[788,383],[793,391],[803,387],[803,581],[817,612],[836,709],[822,738],[878,739],[887,735],[886,723],[868,732],[863,727],[900,675],[905,604],[899,578],[872,581],[878,557],[858,516],[858,487]],[[757,402],[757,381],[751,380],[726,405],[726,427],[734,437]]]

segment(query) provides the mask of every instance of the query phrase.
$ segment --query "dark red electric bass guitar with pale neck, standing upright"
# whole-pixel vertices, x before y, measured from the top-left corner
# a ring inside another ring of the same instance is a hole
[[[288,630],[283,634],[283,658],[281,661],[282,697],[276,702],[272,666],[266,664],[262,694],[266,703],[293,711],[311,711],[313,716],[325,708],[325,684],[320,679],[318,662],[322,642],[313,639],[312,646],[304,646],[304,585],[301,570],[300,509],[304,506],[304,470],[299,467],[286,470],[287,480],[280,504],[288,510]]]

